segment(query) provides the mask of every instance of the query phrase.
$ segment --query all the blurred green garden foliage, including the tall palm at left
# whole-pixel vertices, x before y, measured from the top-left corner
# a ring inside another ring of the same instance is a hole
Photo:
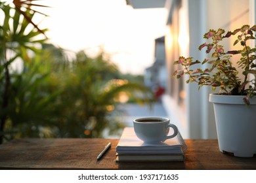
[[[115,112],[123,95],[154,101],[148,88],[125,80],[103,53],[89,58],[78,52],[69,60],[64,50],[45,44],[47,29],[33,22],[41,14],[32,10],[41,7],[34,1],[0,1],[0,144],[12,136],[102,137],[121,127]],[[21,71],[11,67],[17,59]]]

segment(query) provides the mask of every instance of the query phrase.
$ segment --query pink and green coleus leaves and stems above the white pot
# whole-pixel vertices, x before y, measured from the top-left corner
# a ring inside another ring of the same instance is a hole
[[[198,50],[206,48],[209,58],[205,58],[201,62],[181,56],[174,64],[181,65],[182,69],[176,70],[173,76],[181,78],[184,75],[188,75],[186,83],[196,82],[199,88],[211,86],[213,91],[218,88],[219,93],[223,95],[245,95],[244,101],[249,105],[249,97],[253,97],[256,94],[256,48],[249,46],[249,41],[255,39],[255,31],[256,25],[252,27],[243,25],[240,29],[228,31],[227,33],[225,33],[224,29],[210,29],[203,36],[204,39],[209,41],[201,44],[198,48]],[[224,51],[224,46],[221,42],[231,36],[237,37],[233,46],[240,43],[241,50]],[[240,55],[240,59],[236,62],[236,67],[230,60],[234,54]],[[208,63],[209,67],[201,69],[205,63]],[[198,64],[200,67],[194,69]],[[242,68],[242,77],[238,76],[238,67]]]

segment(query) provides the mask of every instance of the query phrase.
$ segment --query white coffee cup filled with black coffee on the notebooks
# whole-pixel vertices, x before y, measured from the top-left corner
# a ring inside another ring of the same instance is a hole
[[[170,124],[168,118],[137,118],[133,120],[133,125],[135,134],[144,142],[163,142],[175,137],[178,133],[177,126]],[[168,135],[169,127],[173,128],[173,135]]]

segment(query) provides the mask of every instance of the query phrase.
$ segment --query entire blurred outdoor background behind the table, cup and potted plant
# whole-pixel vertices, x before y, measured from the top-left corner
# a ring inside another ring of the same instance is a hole
[[[215,139],[211,91],[171,78],[173,62],[205,57],[209,29],[244,24],[254,0],[0,0],[0,143],[118,138],[142,116]]]

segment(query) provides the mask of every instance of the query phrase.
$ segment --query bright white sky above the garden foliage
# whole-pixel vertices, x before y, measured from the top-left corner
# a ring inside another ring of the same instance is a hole
[[[133,9],[125,0],[45,1],[51,42],[72,51],[104,49],[125,73],[142,74],[154,61],[154,39],[165,35],[165,8]]]

